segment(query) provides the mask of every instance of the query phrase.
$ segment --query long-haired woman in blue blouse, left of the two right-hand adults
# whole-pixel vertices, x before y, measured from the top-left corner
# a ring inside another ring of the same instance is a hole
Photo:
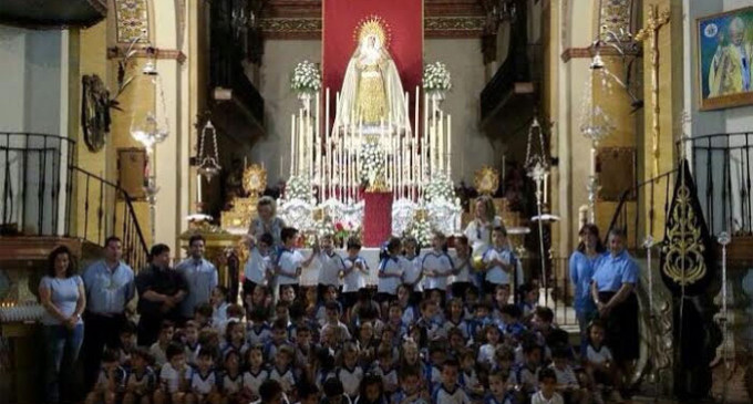
[[[599,238],[599,228],[594,224],[586,224],[578,232],[580,244],[570,256],[570,282],[575,287],[575,312],[580,327],[581,348],[586,348],[586,329],[596,315],[596,303],[591,299],[591,277],[599,260],[604,257],[605,248]]]

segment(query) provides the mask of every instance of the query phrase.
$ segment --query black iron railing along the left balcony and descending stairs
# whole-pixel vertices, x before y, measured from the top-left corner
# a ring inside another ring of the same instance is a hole
[[[73,165],[75,142],[56,135],[0,133],[0,234],[74,237],[102,245],[123,240],[136,269],[147,247],[133,198],[120,186]]]

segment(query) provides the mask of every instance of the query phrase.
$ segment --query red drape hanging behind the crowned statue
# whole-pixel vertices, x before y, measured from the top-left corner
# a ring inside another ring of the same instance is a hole
[[[423,0],[323,0],[322,73],[324,89],[331,92],[330,108],[334,111],[334,94],[342,87],[355,50],[355,27],[369,15],[381,17],[390,28],[389,52],[398,65],[403,91],[411,95],[412,117],[415,86],[421,84],[423,72]]]

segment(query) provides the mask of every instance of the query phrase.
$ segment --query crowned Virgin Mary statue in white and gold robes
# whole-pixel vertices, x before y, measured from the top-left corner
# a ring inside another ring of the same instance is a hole
[[[395,127],[410,128],[405,122],[403,85],[386,50],[389,35],[382,20],[369,18],[355,33],[358,44],[342,81],[336,125],[355,124],[368,130],[392,122]]]

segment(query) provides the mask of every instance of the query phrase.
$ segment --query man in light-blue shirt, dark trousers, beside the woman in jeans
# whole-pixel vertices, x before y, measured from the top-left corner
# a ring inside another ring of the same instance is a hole
[[[87,391],[96,381],[104,346],[118,348],[118,334],[127,321],[125,307],[136,286],[133,269],[121,261],[123,245],[117,237],[104,241],[104,259],[89,266],[83,280],[86,287],[84,320],[84,380]]]

